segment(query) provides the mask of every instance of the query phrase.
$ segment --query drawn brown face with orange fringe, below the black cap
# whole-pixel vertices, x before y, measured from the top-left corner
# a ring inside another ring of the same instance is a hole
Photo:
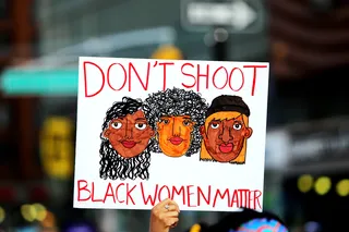
[[[217,112],[206,119],[201,134],[213,159],[230,162],[241,154],[245,139],[252,135],[252,129],[244,121],[239,112]]]

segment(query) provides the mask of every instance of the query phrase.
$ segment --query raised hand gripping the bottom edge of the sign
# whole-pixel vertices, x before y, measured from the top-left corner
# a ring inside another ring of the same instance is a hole
[[[168,232],[178,222],[179,207],[176,202],[165,199],[152,209],[149,232]]]

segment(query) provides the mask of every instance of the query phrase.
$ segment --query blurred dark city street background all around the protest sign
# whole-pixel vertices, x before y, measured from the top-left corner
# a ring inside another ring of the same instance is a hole
[[[349,1],[0,0],[0,230],[148,227],[72,208],[80,56],[270,62],[264,207],[294,232],[347,231]]]

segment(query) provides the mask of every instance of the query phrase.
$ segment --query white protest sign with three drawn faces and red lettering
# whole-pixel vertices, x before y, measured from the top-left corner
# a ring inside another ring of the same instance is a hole
[[[262,209],[268,63],[79,65],[74,207]]]

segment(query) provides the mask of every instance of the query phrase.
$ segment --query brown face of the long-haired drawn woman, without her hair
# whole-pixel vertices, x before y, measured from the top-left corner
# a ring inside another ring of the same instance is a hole
[[[154,131],[148,126],[144,112],[139,110],[124,118],[113,119],[104,131],[112,148],[124,158],[142,154],[148,146]]]

